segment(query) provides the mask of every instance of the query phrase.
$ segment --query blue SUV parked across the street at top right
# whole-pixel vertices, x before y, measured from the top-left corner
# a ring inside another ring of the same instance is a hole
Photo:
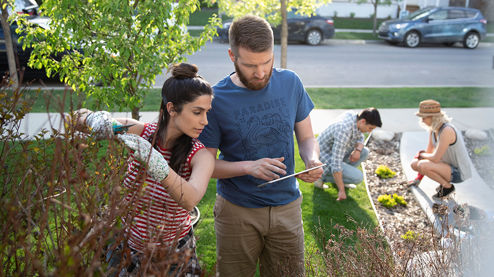
[[[391,44],[403,42],[408,47],[420,43],[462,42],[465,48],[475,48],[486,35],[487,20],[477,9],[428,7],[403,19],[382,22],[378,37]]]

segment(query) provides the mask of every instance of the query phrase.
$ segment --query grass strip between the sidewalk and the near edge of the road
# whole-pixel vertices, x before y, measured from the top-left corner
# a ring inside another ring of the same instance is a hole
[[[369,106],[376,108],[416,108],[423,99],[434,98],[445,108],[461,107],[494,107],[492,88],[481,87],[393,87],[393,88],[307,88],[316,109],[361,109]],[[30,92],[35,94],[33,90]],[[35,101],[31,112],[45,113],[46,100],[50,100],[49,111],[59,112],[56,105],[58,99],[63,99],[63,90],[44,92]],[[54,101],[57,100],[57,101]],[[81,107],[85,100],[83,95],[65,99],[65,107],[72,104],[75,109]],[[72,103],[71,103],[72,101]],[[159,111],[161,91],[149,90],[144,99],[141,112]],[[66,108],[64,112],[69,112]]]

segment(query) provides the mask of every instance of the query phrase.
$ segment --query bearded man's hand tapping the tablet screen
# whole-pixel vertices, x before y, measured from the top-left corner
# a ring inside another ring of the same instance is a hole
[[[260,158],[253,160],[249,166],[247,175],[252,175],[255,178],[265,181],[273,181],[280,178],[280,175],[287,175],[287,166],[283,163],[284,157],[281,158]],[[276,174],[278,173],[278,174]]]

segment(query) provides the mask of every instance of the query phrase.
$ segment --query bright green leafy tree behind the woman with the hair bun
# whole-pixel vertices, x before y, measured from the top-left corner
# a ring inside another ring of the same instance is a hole
[[[217,35],[216,16],[199,37],[183,30],[199,6],[199,0],[44,0],[40,10],[50,18],[49,29],[24,21],[27,35],[20,40],[34,49],[31,67],[58,73],[92,96],[92,108],[130,108],[138,119],[155,77]]]

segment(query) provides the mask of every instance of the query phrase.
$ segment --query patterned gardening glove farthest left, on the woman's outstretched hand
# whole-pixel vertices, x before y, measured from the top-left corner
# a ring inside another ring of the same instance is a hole
[[[91,129],[91,135],[96,140],[112,139],[115,136],[113,126],[122,125],[107,111],[90,113],[84,120],[84,124]]]

